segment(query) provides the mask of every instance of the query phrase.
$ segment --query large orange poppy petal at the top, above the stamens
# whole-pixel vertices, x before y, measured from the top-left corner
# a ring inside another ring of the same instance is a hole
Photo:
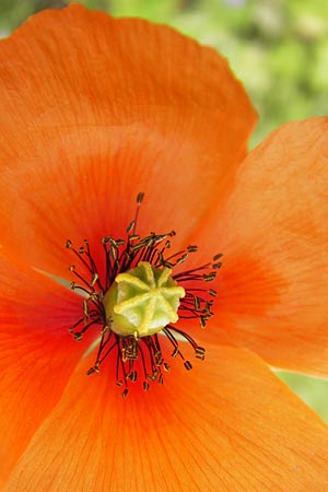
[[[0,73],[2,244],[60,276],[65,241],[121,233],[139,191],[140,230],[186,239],[224,197],[255,122],[212,49],[82,5],[2,40]]]

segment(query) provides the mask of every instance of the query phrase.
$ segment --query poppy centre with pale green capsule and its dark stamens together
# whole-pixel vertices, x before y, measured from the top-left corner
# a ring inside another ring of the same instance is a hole
[[[80,273],[75,265],[69,267],[78,279],[71,283],[71,289],[83,296],[82,316],[70,332],[80,341],[87,331],[96,330],[97,354],[87,374],[99,373],[105,359],[114,358],[116,384],[124,386],[124,397],[128,395],[129,384],[140,374],[144,390],[149,389],[150,382],[163,384],[163,372],[169,371],[163,356],[164,343],[171,345],[172,356],[180,358],[187,370],[192,365],[183,354],[184,345],[189,344],[197,359],[204,359],[204,349],[178,327],[178,321],[198,319],[204,328],[213,315],[211,307],[216,296],[216,292],[204,284],[215,278],[222,256],[214,256],[213,262],[190,270],[179,269],[175,273],[175,267],[185,262],[197,247],[188,246],[169,255],[174,231],[160,235],[151,233],[142,238],[136,234],[142,198],[143,194],[137,197],[136,218],[127,229],[127,238],[104,236],[101,241],[104,276],[99,274],[104,268],[96,265],[87,241],[79,249],[67,241],[67,248],[83,268]]]

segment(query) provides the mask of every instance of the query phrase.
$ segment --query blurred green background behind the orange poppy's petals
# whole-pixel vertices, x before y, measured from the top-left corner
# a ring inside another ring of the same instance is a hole
[[[0,35],[62,0],[0,0]],[[328,115],[327,0],[83,0],[114,15],[166,23],[230,59],[259,113],[250,145],[278,125]],[[279,373],[325,420],[328,383]]]

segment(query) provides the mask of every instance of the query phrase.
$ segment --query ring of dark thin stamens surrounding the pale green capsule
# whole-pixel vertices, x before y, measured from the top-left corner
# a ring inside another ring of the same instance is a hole
[[[118,386],[124,387],[122,396],[129,390],[129,383],[137,380],[140,370],[143,378],[143,389],[150,388],[150,382],[163,384],[164,373],[169,371],[169,364],[163,359],[162,344],[164,339],[172,345],[172,356],[180,358],[186,370],[192,367],[190,361],[186,360],[181,352],[181,340],[189,343],[197,359],[204,359],[204,349],[199,347],[194,338],[168,323],[159,332],[140,337],[138,329],[132,335],[121,336],[112,329],[108,323],[104,297],[119,274],[134,269],[140,262],[147,262],[155,269],[171,269],[184,263],[190,254],[197,251],[197,246],[188,246],[185,250],[168,255],[172,247],[171,238],[175,232],[166,234],[150,233],[140,237],[136,233],[139,207],[143,195],[137,197],[137,212],[134,220],[127,227],[127,238],[117,239],[113,236],[104,236],[101,245],[104,253],[105,276],[101,279],[97,265],[91,254],[87,241],[83,246],[75,249],[71,241],[67,241],[69,248],[84,271],[81,274],[74,265],[69,270],[78,279],[71,282],[71,289],[83,295],[83,316],[71,326],[70,332],[75,340],[82,340],[86,331],[97,329],[99,342],[94,365],[87,374],[99,373],[101,365],[109,355],[116,358],[115,378]],[[213,257],[213,261],[190,270],[179,271],[172,274],[173,281],[185,290],[185,297],[180,298],[178,307],[179,319],[198,319],[200,327],[204,328],[208,319],[213,315],[211,308],[216,291],[207,289],[206,283],[214,280],[216,270],[221,267],[222,255]],[[165,337],[163,337],[164,335]]]

